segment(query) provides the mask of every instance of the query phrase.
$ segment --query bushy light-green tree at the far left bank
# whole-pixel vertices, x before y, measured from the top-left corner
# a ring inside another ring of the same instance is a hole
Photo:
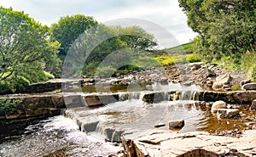
[[[43,70],[56,72],[58,42],[49,42],[49,28],[27,14],[0,7],[0,83],[15,90],[22,82],[40,81]],[[45,77],[44,77],[45,78]]]

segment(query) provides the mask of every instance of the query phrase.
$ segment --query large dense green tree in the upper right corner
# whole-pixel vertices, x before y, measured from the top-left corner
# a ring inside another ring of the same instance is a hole
[[[254,0],[179,0],[179,3],[188,16],[188,25],[199,33],[198,52],[238,59],[247,50],[255,50]]]

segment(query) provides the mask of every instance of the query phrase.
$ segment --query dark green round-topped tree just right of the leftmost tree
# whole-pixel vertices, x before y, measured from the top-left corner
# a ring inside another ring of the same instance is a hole
[[[84,33],[84,31],[97,24],[98,22],[93,20],[92,17],[84,16],[83,14],[67,15],[61,17],[57,23],[52,24],[51,32],[53,40],[61,42],[60,55],[64,55],[65,57],[72,43]]]

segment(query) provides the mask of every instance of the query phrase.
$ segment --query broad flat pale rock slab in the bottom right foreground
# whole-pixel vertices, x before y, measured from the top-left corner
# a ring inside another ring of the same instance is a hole
[[[154,130],[134,140],[123,139],[131,156],[255,156],[256,130],[246,131],[242,137],[211,136],[207,132],[166,132]]]

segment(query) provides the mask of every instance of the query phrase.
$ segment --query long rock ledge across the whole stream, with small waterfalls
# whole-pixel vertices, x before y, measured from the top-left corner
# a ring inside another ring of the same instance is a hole
[[[223,100],[228,104],[251,104],[256,91],[212,92],[212,91],[171,91],[132,93],[59,93],[41,95],[9,95],[1,102],[10,101],[15,109],[1,113],[1,119],[18,119],[35,116],[59,115],[61,109],[88,107],[95,108],[127,99],[142,99],[148,104],[161,101],[196,100],[214,102]]]

